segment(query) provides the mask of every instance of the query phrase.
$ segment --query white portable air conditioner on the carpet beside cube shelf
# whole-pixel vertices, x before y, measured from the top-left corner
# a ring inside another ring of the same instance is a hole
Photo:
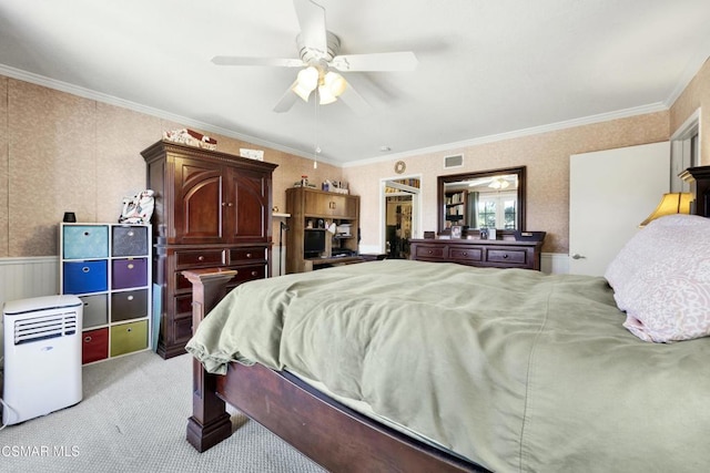
[[[70,295],[4,305],[6,425],[81,401],[82,307],[81,299]]]

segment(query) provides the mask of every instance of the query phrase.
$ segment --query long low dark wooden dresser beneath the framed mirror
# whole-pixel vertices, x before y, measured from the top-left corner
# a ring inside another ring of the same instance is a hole
[[[542,241],[412,239],[410,259],[490,268],[540,269]]]

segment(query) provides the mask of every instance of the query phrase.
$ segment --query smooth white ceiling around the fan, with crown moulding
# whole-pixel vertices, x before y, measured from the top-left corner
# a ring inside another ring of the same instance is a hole
[[[0,73],[352,164],[668,107],[710,55],[708,0],[317,0],[343,54],[414,51],[414,72],[351,72],[372,105],[298,101],[292,0],[0,0]],[[389,152],[381,152],[388,146]]]

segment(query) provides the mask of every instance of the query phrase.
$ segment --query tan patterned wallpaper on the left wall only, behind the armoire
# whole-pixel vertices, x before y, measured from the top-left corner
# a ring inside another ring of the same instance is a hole
[[[163,131],[183,127],[0,76],[0,257],[57,255],[58,223],[67,210],[79,222],[116,222],[123,197],[145,187],[140,152],[161,140]],[[221,152],[255,147],[212,136]],[[273,203],[281,212],[285,187],[302,174],[316,182],[341,179],[339,167],[320,163],[313,169],[310,160],[263,150],[265,161],[278,164]]]

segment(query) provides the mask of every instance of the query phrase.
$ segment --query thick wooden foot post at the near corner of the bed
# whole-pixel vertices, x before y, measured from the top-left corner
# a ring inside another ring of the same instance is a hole
[[[205,315],[224,297],[226,284],[235,270],[220,268],[183,271],[192,282],[192,331]],[[187,420],[187,442],[199,452],[216,445],[232,435],[232,420],[224,401],[217,398],[216,376],[207,373],[202,363],[192,360],[192,417]]]

